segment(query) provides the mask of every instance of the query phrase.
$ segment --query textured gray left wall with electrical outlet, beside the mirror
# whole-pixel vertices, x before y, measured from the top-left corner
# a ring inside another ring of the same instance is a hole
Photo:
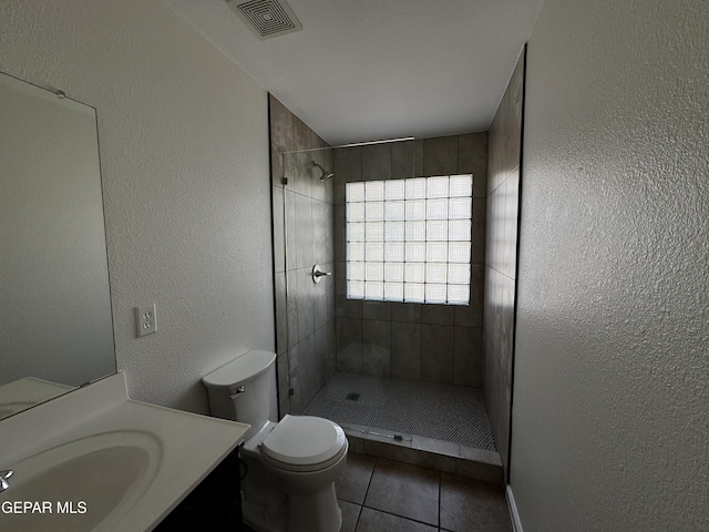
[[[97,110],[116,361],[207,412],[201,378],[274,349],[267,95],[162,2],[0,2],[0,70]],[[135,338],[133,307],[157,304]]]

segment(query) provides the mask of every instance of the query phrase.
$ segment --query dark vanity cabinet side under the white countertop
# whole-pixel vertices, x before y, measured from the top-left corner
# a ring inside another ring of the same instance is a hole
[[[184,530],[243,531],[238,449],[154,529],[155,532]]]

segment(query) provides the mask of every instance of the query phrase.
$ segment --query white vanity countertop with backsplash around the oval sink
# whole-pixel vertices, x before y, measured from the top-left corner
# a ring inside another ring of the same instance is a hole
[[[136,434],[142,434],[141,438],[151,441],[150,452],[144,453],[151,457],[150,480],[138,488],[140,493],[129,491],[124,497],[124,507],[125,500],[132,499],[130,508],[110,513],[90,529],[148,531],[244,440],[248,429],[248,424],[130,399],[125,376],[119,372],[1,420],[0,470],[12,469],[13,464],[31,461],[35,456],[53,452],[54,457],[61,457],[63,449],[71,449],[78,441],[102,439],[104,448],[107,441],[111,449],[125,449]],[[17,493],[31,499],[25,495],[27,490],[22,492],[20,475],[18,472],[9,479],[10,488],[0,493],[0,501],[13,501],[13,483],[20,487]],[[55,500],[71,501],[71,494],[56,493]],[[86,501],[85,515],[90,516],[91,512],[91,503]],[[53,525],[59,525],[62,518],[44,515],[43,519],[60,530]],[[25,516],[0,512],[0,529],[4,528],[3,521],[10,519],[20,524]],[[80,525],[81,518],[73,519]]]

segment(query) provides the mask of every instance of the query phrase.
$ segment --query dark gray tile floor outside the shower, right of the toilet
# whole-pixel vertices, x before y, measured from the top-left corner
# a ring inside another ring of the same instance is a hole
[[[513,530],[501,485],[358,452],[347,460],[340,532]]]

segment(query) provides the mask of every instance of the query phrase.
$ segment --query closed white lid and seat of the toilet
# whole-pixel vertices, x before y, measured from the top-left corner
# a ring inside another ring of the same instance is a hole
[[[289,416],[260,444],[261,456],[273,466],[296,472],[326,469],[347,452],[342,428],[311,416]]]

